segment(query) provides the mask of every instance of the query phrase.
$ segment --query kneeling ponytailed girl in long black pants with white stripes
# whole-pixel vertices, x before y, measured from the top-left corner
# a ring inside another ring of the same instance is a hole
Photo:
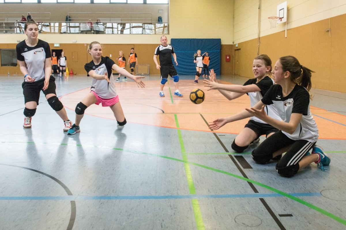
[[[322,170],[323,166],[330,164],[330,158],[320,146],[315,145],[318,129],[309,108],[311,72],[300,65],[297,58],[281,57],[272,71],[276,85],[255,106],[238,114],[238,120],[256,116],[280,130],[263,141],[252,152],[252,158],[257,163],[265,164],[272,157],[286,152],[276,164],[276,171],[282,176],[293,176],[312,162]],[[265,114],[264,106],[270,104],[276,107],[283,121]],[[228,119],[228,122],[233,119]],[[218,122],[214,122],[210,127],[217,128],[218,125]],[[312,154],[309,152],[311,148]]]

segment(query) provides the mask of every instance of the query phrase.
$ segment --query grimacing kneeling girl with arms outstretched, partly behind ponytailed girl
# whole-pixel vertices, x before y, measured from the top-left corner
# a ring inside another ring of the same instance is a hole
[[[247,94],[250,98],[250,106],[254,106],[274,84],[273,80],[268,77],[271,70],[272,60],[267,55],[262,54],[255,57],[252,64],[252,71],[255,78],[249,79],[244,83],[244,85],[226,85],[217,83],[216,74],[213,69],[210,71],[210,80],[204,79],[203,83],[206,84],[204,86],[210,87],[210,89],[218,89],[219,92],[229,100]],[[265,112],[272,118],[281,120],[273,106],[267,106]],[[226,119],[227,118],[217,119],[217,122],[220,123],[220,127],[226,124]],[[242,132],[236,136],[231,147],[235,152],[242,153],[250,144],[260,141],[259,137],[261,135],[269,137],[277,131],[277,128],[267,124],[261,119],[251,117]],[[277,158],[280,158],[280,156]]]

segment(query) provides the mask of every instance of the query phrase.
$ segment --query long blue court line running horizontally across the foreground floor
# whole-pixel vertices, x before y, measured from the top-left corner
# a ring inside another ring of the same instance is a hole
[[[289,193],[294,197],[319,197],[321,193]],[[220,194],[220,195],[166,195],[166,196],[61,196],[61,197],[0,197],[0,200],[163,200],[163,199],[203,199],[203,198],[265,198],[284,197],[278,193]]]

